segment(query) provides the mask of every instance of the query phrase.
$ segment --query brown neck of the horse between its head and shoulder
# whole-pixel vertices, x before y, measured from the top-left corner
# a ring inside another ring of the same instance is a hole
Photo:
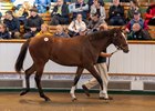
[[[104,31],[102,34],[96,33],[94,36],[96,39],[93,39],[91,43],[97,51],[103,51],[111,44],[110,32]]]

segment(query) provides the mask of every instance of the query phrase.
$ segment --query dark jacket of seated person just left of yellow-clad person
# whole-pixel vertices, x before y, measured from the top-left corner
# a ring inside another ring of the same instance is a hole
[[[35,17],[30,17],[24,24],[25,31],[30,31],[30,28],[37,28],[37,31],[39,32],[41,30],[41,24],[43,23],[43,20],[38,14]]]

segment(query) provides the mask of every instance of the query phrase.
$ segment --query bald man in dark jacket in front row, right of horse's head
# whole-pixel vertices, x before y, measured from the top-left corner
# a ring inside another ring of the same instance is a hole
[[[131,33],[127,36],[128,40],[151,40],[147,30],[141,28],[140,23],[134,23]]]

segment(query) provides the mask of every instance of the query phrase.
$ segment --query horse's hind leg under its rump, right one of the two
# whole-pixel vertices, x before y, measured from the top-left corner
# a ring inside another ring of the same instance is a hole
[[[44,68],[44,64],[42,67],[38,65],[34,79],[35,79],[35,82],[37,82],[37,87],[38,87],[40,97],[43,98],[45,101],[50,101],[50,99],[43,93],[43,90],[42,90],[42,87],[41,87],[41,77],[42,77],[42,73],[43,73],[43,68]]]

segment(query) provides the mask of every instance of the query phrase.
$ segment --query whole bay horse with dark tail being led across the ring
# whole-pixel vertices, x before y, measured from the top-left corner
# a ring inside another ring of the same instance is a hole
[[[84,69],[90,71],[90,73],[96,78],[103,90],[102,79],[95,70],[94,63],[96,63],[100,53],[111,43],[124,52],[128,52],[125,34],[121,29],[116,28],[108,31],[99,31],[89,36],[79,36],[74,38],[54,38],[50,34],[42,34],[28,39],[22,44],[14,65],[16,71],[20,73],[29,48],[33,64],[24,71],[27,85],[20,95],[30,91],[29,78],[35,72],[34,80],[39,89],[39,94],[45,101],[50,101],[50,98],[44,94],[41,87],[43,69],[49,60],[62,65],[78,67],[74,83],[70,92],[73,100],[76,99],[74,94],[75,85]]]

